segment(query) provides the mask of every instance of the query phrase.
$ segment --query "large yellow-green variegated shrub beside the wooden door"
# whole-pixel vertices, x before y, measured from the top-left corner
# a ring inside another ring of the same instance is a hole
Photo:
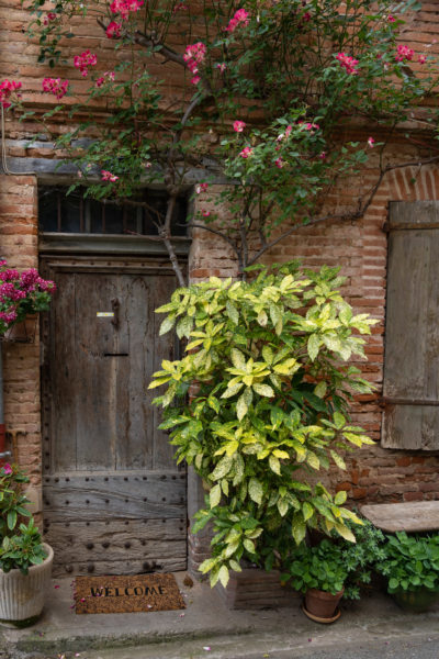
[[[212,522],[212,555],[200,567],[212,585],[226,587],[243,560],[279,567],[307,528],[354,541],[346,492],[331,494],[315,476],[346,469],[346,450],[373,444],[348,420],[352,392],[371,387],[345,364],[363,356],[357,332],[369,334],[373,321],[342,299],[338,269],[290,263],[247,277],[179,289],[157,310],[167,314],[160,334],[176,325],[189,339],[149,388],[166,386],[155,401],[160,427],[209,491],[192,532]]]

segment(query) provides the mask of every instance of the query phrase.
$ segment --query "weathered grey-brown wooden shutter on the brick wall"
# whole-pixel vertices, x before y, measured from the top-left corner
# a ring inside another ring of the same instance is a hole
[[[382,446],[439,449],[439,202],[390,208]]]

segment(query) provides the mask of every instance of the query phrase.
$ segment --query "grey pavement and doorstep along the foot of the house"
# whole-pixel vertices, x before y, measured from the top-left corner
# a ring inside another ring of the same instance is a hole
[[[40,623],[1,630],[0,659],[439,659],[439,606],[409,614],[376,591],[319,625],[299,597],[229,611],[207,584],[185,588],[183,578],[184,611],[105,615],[76,615],[70,580],[57,580]]]

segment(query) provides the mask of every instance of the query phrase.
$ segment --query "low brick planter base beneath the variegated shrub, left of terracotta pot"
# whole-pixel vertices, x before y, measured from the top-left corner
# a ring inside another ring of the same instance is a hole
[[[297,606],[301,593],[290,585],[281,585],[280,572],[266,572],[258,568],[246,568],[230,572],[227,588],[216,587],[227,608],[280,608]]]

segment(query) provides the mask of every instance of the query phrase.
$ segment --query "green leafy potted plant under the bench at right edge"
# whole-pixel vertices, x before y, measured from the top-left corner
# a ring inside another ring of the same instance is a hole
[[[427,611],[439,593],[439,535],[387,535],[376,570],[387,579],[387,592],[404,610]]]

